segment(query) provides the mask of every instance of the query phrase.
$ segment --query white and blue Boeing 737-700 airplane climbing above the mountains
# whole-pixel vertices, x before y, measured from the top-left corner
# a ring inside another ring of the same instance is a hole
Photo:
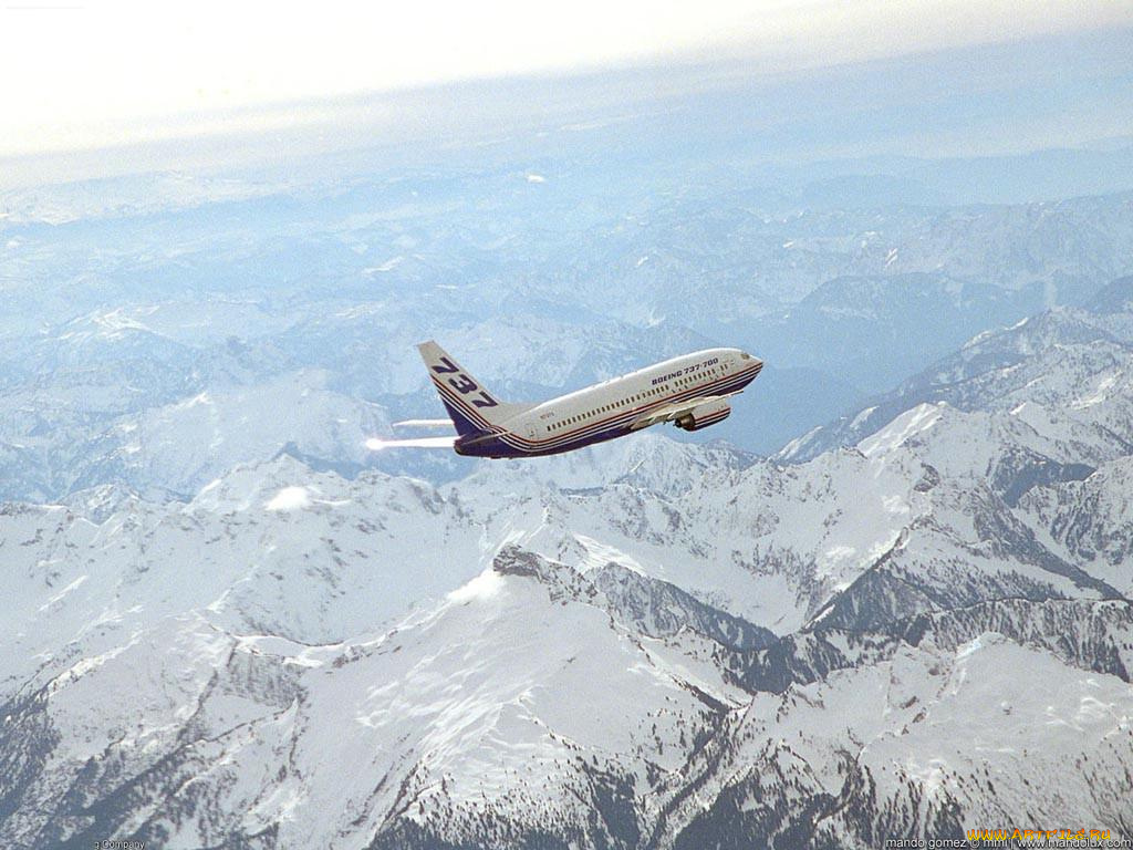
[[[727,418],[729,400],[764,362],[738,348],[710,348],[534,405],[501,401],[435,341],[417,346],[457,426],[453,449],[477,458],[560,454],[671,422],[700,431]]]

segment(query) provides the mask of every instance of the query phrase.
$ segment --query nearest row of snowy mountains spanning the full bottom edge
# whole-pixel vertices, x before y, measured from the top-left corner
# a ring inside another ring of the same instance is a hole
[[[648,580],[628,611],[602,575],[505,547],[372,639],[309,646],[207,614],[135,630],[9,700],[7,832],[863,847],[1019,811],[1133,825],[1127,603],[1013,600],[760,648]],[[640,618],[657,603],[667,628]],[[1085,766],[1042,781],[1067,760]]]

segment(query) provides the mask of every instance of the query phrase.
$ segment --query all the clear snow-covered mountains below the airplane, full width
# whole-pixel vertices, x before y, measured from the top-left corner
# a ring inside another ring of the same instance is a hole
[[[1128,834],[1133,441],[1107,303],[965,346],[928,381],[947,393],[791,464],[646,433],[443,485],[284,452],[188,502],[9,504],[5,832]]]

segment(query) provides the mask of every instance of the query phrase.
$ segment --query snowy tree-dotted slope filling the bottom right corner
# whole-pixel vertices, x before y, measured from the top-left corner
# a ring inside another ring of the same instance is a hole
[[[956,647],[901,644],[881,662],[757,694],[658,801],[656,845],[869,847],[1082,818],[1127,834],[1131,765],[1127,680],[993,631]]]

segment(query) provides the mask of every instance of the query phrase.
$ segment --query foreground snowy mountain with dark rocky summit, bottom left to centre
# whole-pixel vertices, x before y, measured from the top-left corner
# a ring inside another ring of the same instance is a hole
[[[167,618],[9,704],[2,751],[36,768],[9,787],[60,807],[20,808],[8,832],[78,844],[128,809],[131,832],[172,847],[406,847],[418,831],[583,834],[597,816],[632,843],[634,800],[743,692],[691,634],[638,637],[600,598],[509,550],[369,640],[309,647]],[[144,698],[100,698],[126,689]]]

